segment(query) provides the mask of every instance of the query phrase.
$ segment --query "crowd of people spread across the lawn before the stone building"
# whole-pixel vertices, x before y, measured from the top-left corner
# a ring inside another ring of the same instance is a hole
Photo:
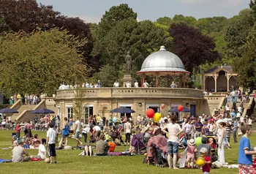
[[[120,119],[112,116],[110,118],[99,115],[89,116],[89,124],[85,124],[84,120],[79,118],[64,118],[61,125],[59,116],[50,115],[38,120],[34,119],[32,123],[27,121],[24,125],[17,122],[14,141],[21,140],[21,129],[24,130],[25,136],[23,141],[16,142],[18,148],[13,151],[13,161],[26,161],[28,158],[21,159],[15,153],[19,152],[18,154],[20,154],[22,151],[21,154],[28,155],[25,149],[31,145],[39,149],[39,156],[43,159],[45,151],[42,143],[46,143],[52,157],[50,162],[53,162],[53,157],[56,156],[55,149],[67,146],[70,137],[77,141],[78,146],[83,145],[87,156],[92,155],[91,143],[96,143],[96,155],[108,155],[109,141],[113,141],[116,145],[128,145],[129,152],[133,152],[135,147],[130,143],[132,136],[141,132],[145,143],[150,137],[154,136],[165,136],[167,138],[167,161],[169,167],[174,169],[178,168],[178,158],[181,157],[178,155],[178,149],[181,145],[181,135],[183,135],[182,139],[185,138],[187,142],[187,167],[195,167],[197,157],[203,156],[206,162],[203,172],[209,173],[209,166],[214,158],[217,158],[222,165],[228,164],[225,161],[225,149],[231,148],[230,133],[233,132],[234,143],[238,143],[237,134],[238,136],[244,135],[239,145],[239,169],[243,171],[254,170],[252,155],[255,155],[256,152],[252,151],[248,139],[252,129],[252,118],[242,117],[239,115],[240,111],[242,110],[239,108],[236,111],[231,108],[231,110],[219,110],[214,116],[205,114],[202,116],[184,116],[181,123],[177,122],[177,116],[175,115],[162,117],[158,122],[140,115],[137,116],[135,121],[132,120],[132,117],[128,118],[126,116]],[[32,136],[31,129],[37,129],[37,123],[47,124],[45,130],[48,130],[48,133],[44,142],[39,140],[38,135]],[[58,142],[56,137],[59,135],[61,140]],[[123,140],[122,135],[125,135],[125,140]],[[83,141],[81,140],[82,137]],[[197,137],[202,137],[202,139],[200,145],[195,146]],[[217,156],[211,153],[213,149],[217,151]],[[244,156],[248,159],[247,161],[243,159]],[[31,159],[31,156],[29,157]],[[217,159],[214,159],[214,161]],[[253,159],[256,160],[256,156],[253,156]]]

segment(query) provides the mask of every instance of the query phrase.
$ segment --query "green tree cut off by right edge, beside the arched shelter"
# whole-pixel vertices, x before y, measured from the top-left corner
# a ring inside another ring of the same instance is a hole
[[[248,39],[241,58],[236,58],[233,68],[238,72],[238,83],[244,87],[255,88],[256,86],[256,25],[249,32]]]

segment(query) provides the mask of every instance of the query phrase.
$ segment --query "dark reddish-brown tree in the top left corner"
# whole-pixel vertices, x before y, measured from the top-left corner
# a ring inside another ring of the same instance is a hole
[[[11,31],[48,29],[54,26],[58,15],[52,6],[37,4],[34,0],[0,0],[0,17]]]

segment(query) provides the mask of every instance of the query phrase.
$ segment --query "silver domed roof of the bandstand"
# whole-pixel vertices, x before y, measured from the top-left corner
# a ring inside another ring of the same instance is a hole
[[[155,74],[162,73],[168,75],[170,73],[189,73],[184,69],[181,59],[173,53],[165,50],[165,46],[161,46],[160,50],[149,55],[137,73]]]

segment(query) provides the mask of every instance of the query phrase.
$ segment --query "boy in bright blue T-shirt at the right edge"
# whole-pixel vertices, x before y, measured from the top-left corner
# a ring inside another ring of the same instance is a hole
[[[240,129],[244,136],[241,137],[238,148],[239,173],[256,173],[255,168],[252,166],[252,155],[255,155],[256,151],[252,151],[248,138],[252,130],[249,125],[244,123],[241,123]]]

